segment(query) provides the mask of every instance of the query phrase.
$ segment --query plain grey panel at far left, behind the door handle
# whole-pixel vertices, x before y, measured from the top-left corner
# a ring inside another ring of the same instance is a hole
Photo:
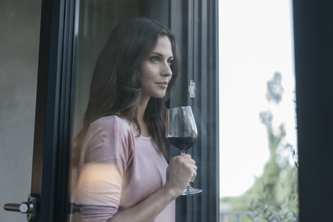
[[[0,1],[0,196],[22,203],[31,191],[41,0]],[[1,221],[26,221],[6,212]]]

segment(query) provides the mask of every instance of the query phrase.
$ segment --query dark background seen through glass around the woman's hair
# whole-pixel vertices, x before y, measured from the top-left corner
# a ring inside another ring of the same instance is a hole
[[[167,1],[104,0],[80,1],[78,56],[76,65],[76,103],[74,113],[74,139],[82,127],[83,115],[89,99],[89,87],[96,59],[108,37],[117,24],[132,17],[149,17],[167,24]],[[164,8],[164,10],[161,10]],[[162,13],[159,13],[162,12]],[[161,19],[162,18],[162,19]],[[71,203],[78,178],[77,168],[71,169]],[[76,221],[76,214],[69,215],[69,221]]]

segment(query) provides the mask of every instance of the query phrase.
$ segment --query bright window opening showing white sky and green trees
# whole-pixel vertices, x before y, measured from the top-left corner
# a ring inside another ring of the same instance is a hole
[[[291,3],[219,1],[221,221],[297,221]]]

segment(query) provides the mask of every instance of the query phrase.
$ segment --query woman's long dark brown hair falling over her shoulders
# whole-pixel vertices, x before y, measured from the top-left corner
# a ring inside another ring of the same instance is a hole
[[[167,95],[178,76],[176,40],[168,28],[162,24],[144,18],[130,19],[119,24],[96,62],[89,91],[89,102],[83,117],[83,128],[74,139],[72,165],[78,164],[80,147],[90,123],[112,114],[120,114],[137,127],[141,127],[137,117],[137,106],[141,98],[140,65],[155,48],[157,38],[165,35],[171,42],[173,62],[172,78]],[[160,152],[167,157],[165,139],[165,98],[151,98],[148,101],[144,122]]]

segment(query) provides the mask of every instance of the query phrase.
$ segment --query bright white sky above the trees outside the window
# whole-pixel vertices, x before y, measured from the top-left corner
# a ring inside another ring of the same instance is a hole
[[[219,1],[220,197],[239,196],[268,161],[266,127],[284,123],[285,143],[296,148],[291,0]],[[282,101],[266,99],[266,83],[282,74]],[[291,153],[286,153],[292,162]]]

